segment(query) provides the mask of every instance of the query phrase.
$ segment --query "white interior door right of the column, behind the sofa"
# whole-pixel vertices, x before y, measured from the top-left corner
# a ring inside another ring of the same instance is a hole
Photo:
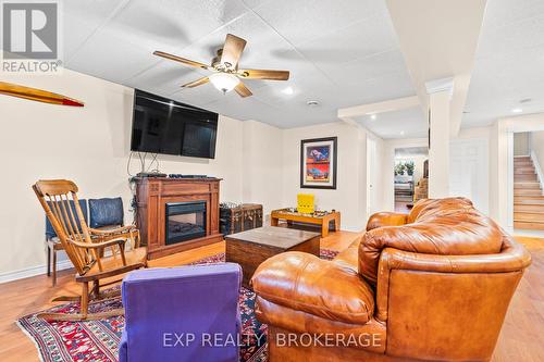
[[[486,139],[456,139],[449,143],[449,195],[469,198],[489,213],[489,158]]]

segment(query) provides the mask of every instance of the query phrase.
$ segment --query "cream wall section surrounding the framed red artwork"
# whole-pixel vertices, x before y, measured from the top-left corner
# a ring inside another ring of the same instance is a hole
[[[336,189],[300,188],[300,140],[338,137]],[[283,130],[283,204],[296,207],[297,194],[313,194],[319,209],[342,212],[342,228],[366,224],[366,134],[346,123]],[[362,210],[361,210],[362,209]]]

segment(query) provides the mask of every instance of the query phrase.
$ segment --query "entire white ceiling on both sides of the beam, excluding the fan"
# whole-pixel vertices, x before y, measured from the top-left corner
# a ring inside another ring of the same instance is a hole
[[[385,0],[77,0],[62,10],[67,68],[239,120],[290,128],[416,95]],[[255,95],[247,99],[210,84],[182,89],[206,71],[152,55],[208,63],[227,33],[248,40],[240,66],[289,70],[290,79],[246,80]],[[544,111],[542,85],[544,1],[489,0],[462,127],[510,115],[526,98],[524,112]],[[290,96],[282,92],[287,86]],[[411,109],[356,121],[381,137],[406,138],[425,137],[424,120]]]

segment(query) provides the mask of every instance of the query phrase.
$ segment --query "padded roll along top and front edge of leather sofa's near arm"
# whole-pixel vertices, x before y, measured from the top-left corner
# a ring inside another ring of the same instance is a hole
[[[506,238],[503,249],[494,254],[440,255],[385,248],[380,257],[376,286],[376,312],[380,322],[387,320],[390,277],[394,270],[428,273],[509,273],[523,271],[531,264],[526,248]]]

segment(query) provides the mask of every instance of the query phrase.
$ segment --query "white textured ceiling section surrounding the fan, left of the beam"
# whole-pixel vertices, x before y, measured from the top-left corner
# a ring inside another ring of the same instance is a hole
[[[382,0],[77,0],[63,12],[67,68],[240,120],[297,127],[415,95]],[[290,79],[247,80],[247,99],[210,84],[181,89],[206,71],[152,55],[209,63],[227,33],[248,41],[240,66],[289,70]],[[281,91],[287,86],[292,96]]]

